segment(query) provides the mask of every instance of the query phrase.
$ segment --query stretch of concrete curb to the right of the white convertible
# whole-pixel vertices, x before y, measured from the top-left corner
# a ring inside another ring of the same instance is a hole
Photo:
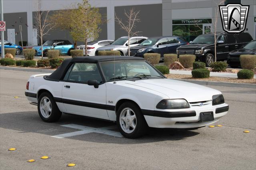
[[[175,79],[175,80],[186,81],[186,82],[195,83],[198,85],[213,85],[213,86],[256,89],[256,84],[249,84],[249,83],[228,83],[228,82],[222,82],[222,81],[201,81],[201,80],[186,80],[186,79]]]

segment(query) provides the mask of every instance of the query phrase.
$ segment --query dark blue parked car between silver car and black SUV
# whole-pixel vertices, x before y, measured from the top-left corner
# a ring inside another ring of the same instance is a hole
[[[177,47],[186,44],[188,42],[185,38],[177,36],[148,38],[140,43],[140,45],[131,47],[130,56],[143,57],[144,53],[160,53],[162,59],[164,54],[176,53]]]

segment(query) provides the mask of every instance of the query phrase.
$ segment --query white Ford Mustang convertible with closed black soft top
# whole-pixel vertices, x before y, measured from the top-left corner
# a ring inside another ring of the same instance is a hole
[[[116,121],[127,138],[147,127],[205,127],[228,112],[220,91],[167,79],[140,57],[65,59],[52,74],[32,75],[25,95],[43,121],[62,113]]]

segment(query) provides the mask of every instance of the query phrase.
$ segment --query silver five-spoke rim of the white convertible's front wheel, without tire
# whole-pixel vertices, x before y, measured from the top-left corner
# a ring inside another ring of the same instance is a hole
[[[126,107],[121,111],[119,118],[122,130],[126,133],[132,133],[136,128],[136,115],[134,111]]]

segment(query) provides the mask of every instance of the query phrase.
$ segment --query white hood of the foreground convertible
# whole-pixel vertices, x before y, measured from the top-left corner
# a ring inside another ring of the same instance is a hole
[[[126,84],[157,91],[170,99],[186,99],[188,102],[209,101],[213,95],[221,94],[220,91],[209,87],[174,79],[144,79],[126,81]]]

